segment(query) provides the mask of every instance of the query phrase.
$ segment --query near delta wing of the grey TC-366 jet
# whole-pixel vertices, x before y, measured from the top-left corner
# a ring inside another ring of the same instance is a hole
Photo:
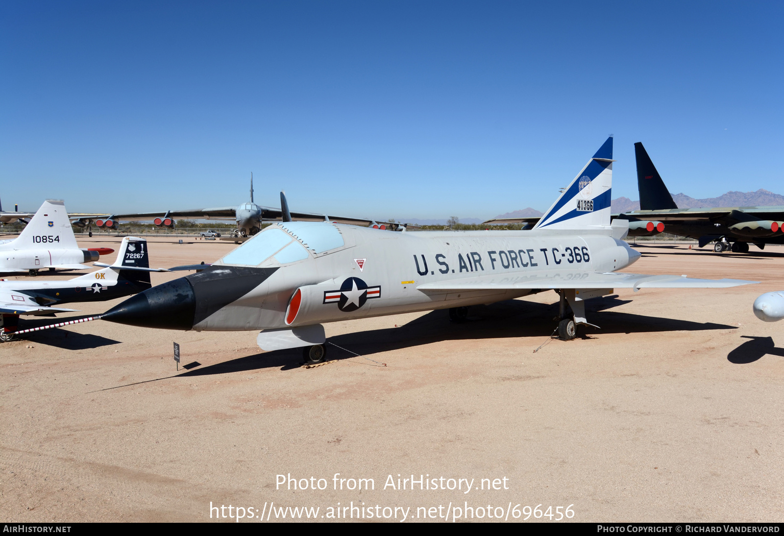
[[[537,288],[728,288],[759,281],[743,279],[694,279],[675,275],[618,272],[548,272],[543,274],[510,276],[487,275],[455,281],[420,284],[425,292],[469,290],[514,290]]]

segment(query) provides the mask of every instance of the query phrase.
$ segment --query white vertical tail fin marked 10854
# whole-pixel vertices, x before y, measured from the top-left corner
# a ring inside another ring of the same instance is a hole
[[[47,199],[13,241],[15,249],[78,249],[64,201]]]

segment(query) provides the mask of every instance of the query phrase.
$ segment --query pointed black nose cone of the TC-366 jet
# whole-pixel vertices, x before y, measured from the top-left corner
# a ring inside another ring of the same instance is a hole
[[[148,288],[101,315],[103,320],[141,328],[189,330],[196,299],[185,277]]]

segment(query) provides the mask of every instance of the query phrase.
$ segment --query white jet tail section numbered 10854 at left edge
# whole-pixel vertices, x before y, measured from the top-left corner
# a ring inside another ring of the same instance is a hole
[[[111,248],[79,248],[63,201],[48,199],[19,237],[0,242],[0,272],[29,272],[42,268],[83,270]]]

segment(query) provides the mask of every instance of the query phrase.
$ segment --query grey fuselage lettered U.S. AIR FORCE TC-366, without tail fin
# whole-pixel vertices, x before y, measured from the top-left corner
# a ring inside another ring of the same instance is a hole
[[[492,274],[503,284],[510,278],[545,273],[570,281],[585,277],[586,270],[619,270],[639,257],[626,242],[606,232],[386,233],[330,223],[307,225],[310,227],[303,223],[267,227],[210,270],[136,295],[121,304],[125,307],[123,323],[207,331],[296,328],[498,302],[539,292],[519,288],[418,290],[424,283]],[[287,227],[292,232],[285,231]],[[325,236],[318,236],[317,231]],[[332,239],[326,235],[341,244],[318,251],[319,241],[326,244]],[[278,241],[273,243],[273,238]],[[259,257],[254,258],[253,252],[259,252]],[[266,258],[260,259],[262,256]],[[256,260],[259,263],[251,264]],[[156,292],[158,298],[148,300],[150,292]],[[169,305],[158,310],[163,302],[159,298],[164,295],[176,299],[167,300]],[[141,309],[133,312],[133,302],[139,302]],[[113,319],[112,311],[104,315],[107,320]],[[136,315],[135,321],[128,320]]]

